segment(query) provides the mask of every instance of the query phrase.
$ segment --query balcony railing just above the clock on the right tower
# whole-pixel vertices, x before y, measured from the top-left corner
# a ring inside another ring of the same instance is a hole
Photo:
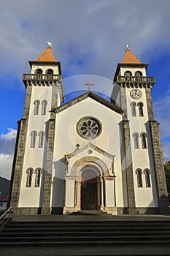
[[[155,83],[155,77],[128,77],[117,75],[117,83]]]

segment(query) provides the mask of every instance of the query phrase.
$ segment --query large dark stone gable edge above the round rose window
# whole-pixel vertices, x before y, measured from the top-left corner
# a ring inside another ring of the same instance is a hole
[[[66,104],[61,105],[60,107],[57,107],[57,102],[56,102],[55,105],[53,105],[52,110],[55,111],[55,113],[59,113],[63,110],[66,110],[66,108],[69,108],[72,105],[77,104],[78,102],[81,102],[84,99],[87,99],[88,97],[96,100],[96,102],[101,103],[102,105],[114,110],[117,113],[120,113],[120,114],[123,113],[123,110],[121,108],[117,107],[117,105],[115,105],[115,103],[108,102],[106,99],[98,96],[97,94],[94,94],[92,91],[87,91],[85,94],[82,94],[79,97],[76,97],[76,98],[70,100],[69,102],[66,102]]]

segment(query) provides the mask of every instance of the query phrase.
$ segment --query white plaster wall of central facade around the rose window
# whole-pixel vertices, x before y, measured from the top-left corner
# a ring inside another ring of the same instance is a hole
[[[122,207],[124,202],[120,157],[120,145],[122,143],[122,138],[120,135],[120,122],[122,121],[122,116],[104,105],[101,105],[101,103],[96,102],[94,99],[84,99],[57,114],[54,147],[55,167],[53,170],[53,176],[61,179],[64,178],[67,168],[64,156],[74,152],[77,148],[77,144],[79,144],[81,148],[88,143],[88,140],[81,138],[80,135],[77,134],[76,129],[77,122],[84,116],[93,116],[101,121],[101,135],[99,135],[98,138],[91,140],[91,143],[109,154],[115,155],[115,190],[117,196],[117,206]],[[83,151],[80,156],[75,156],[74,159],[69,159],[69,166],[72,167],[74,162],[83,156],[87,156],[87,151]],[[102,160],[107,162],[107,165],[111,170],[110,159],[101,156],[101,154],[98,154],[98,152],[95,150],[93,150],[93,153],[90,154],[90,157],[93,156],[101,157]]]

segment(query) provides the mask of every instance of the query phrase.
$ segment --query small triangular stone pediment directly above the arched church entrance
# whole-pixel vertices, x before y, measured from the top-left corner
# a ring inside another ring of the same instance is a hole
[[[92,154],[93,151],[96,151],[99,154],[101,154],[102,156],[105,156],[109,159],[114,159],[114,157],[115,157],[115,155],[109,154],[107,151],[104,151],[103,149],[98,148],[96,145],[94,145],[93,143],[90,143],[90,142],[88,144],[86,144],[85,146],[82,146],[81,148],[76,149],[74,152],[72,152],[70,154],[66,154],[65,157],[66,157],[66,159],[70,159],[72,157],[79,155],[83,151],[86,151],[87,154]]]

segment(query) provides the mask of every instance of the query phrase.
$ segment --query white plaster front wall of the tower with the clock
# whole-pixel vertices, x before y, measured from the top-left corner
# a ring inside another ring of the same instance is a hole
[[[139,99],[133,99],[130,96],[130,91],[132,89],[126,88],[126,101],[127,101],[127,113],[128,120],[130,121],[130,130],[131,130],[131,151],[132,151],[132,164],[134,169],[134,189],[135,189],[135,200],[136,207],[156,207],[158,206],[157,200],[157,192],[156,192],[156,184],[155,184],[155,172],[152,162],[152,146],[151,146],[151,138],[150,138],[150,129],[148,124],[148,115],[147,115],[147,99],[145,94],[145,89],[139,89],[142,91],[142,97]],[[131,102],[136,102],[136,116],[132,116],[131,114]],[[143,102],[143,110],[144,116],[139,116],[139,108],[137,106],[138,102]],[[142,140],[139,137],[139,149],[134,148],[134,138],[133,133],[138,132],[139,136],[142,132],[147,134],[147,148],[142,148]],[[136,181],[136,169],[141,168],[144,170],[148,168],[150,170],[150,180],[151,187],[146,187],[145,184],[145,176],[142,175],[143,179],[143,187],[137,187]]]

